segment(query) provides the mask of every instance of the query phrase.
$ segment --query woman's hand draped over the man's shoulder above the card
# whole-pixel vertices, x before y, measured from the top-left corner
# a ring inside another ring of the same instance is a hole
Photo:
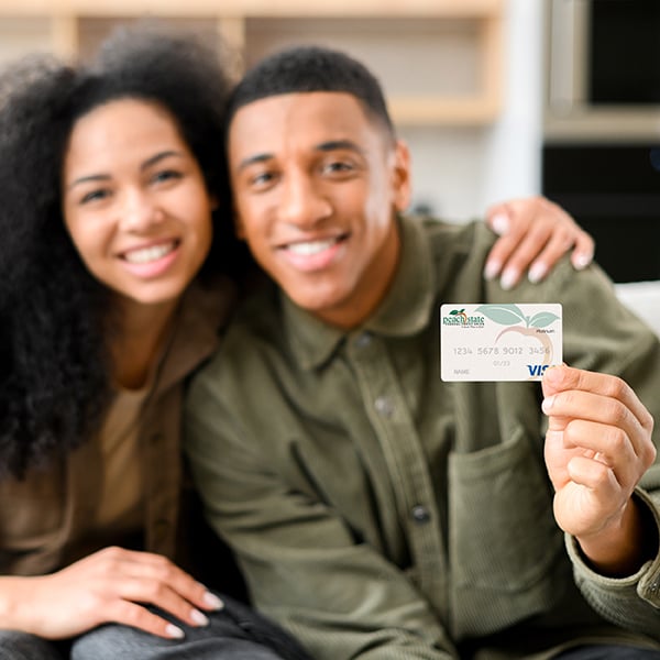
[[[484,275],[493,279],[502,274],[505,289],[518,284],[526,268],[530,282],[540,282],[571,249],[571,262],[578,270],[586,267],[594,257],[593,239],[544,197],[493,206],[486,222],[499,239],[488,254]]]

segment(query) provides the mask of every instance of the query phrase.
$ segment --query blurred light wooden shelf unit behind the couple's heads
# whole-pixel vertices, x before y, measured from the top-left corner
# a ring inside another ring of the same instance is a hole
[[[239,69],[293,43],[345,50],[378,76],[396,123],[480,125],[499,111],[503,6],[504,0],[1,0],[0,59],[13,57],[22,37],[25,51],[87,56],[118,23],[152,15],[222,34],[240,54]]]

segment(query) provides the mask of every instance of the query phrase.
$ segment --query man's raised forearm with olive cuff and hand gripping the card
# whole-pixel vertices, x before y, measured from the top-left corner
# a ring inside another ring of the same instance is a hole
[[[605,616],[660,638],[653,419],[625,382],[607,374],[556,367],[543,393],[554,515],[570,535],[578,583]],[[639,486],[645,475],[649,492]]]

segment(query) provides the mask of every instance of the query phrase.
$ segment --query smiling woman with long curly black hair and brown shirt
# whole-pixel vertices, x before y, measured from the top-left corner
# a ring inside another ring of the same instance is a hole
[[[0,77],[0,658],[306,657],[182,568],[200,544],[183,392],[248,262],[219,62],[142,28],[89,66],[33,57]],[[498,210],[513,229],[491,275],[560,233],[560,252],[588,251],[538,200]]]

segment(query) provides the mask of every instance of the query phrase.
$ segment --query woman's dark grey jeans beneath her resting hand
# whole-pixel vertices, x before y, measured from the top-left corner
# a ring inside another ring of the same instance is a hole
[[[210,624],[202,628],[191,628],[161,612],[185,631],[182,640],[109,624],[73,640],[68,651],[62,642],[2,630],[0,660],[310,660],[279,627],[242,603],[222,600],[224,608],[210,614]]]

